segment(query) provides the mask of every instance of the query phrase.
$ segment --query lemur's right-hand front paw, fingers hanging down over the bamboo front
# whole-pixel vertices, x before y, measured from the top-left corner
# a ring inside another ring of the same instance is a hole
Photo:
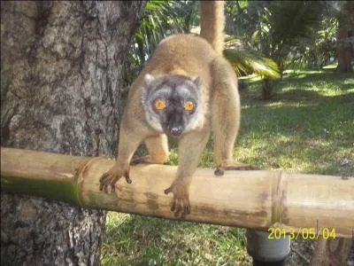
[[[175,217],[181,215],[185,218],[190,214],[189,188],[184,184],[172,184],[168,189],[165,189],[165,194],[173,192],[173,205],[171,211]]]

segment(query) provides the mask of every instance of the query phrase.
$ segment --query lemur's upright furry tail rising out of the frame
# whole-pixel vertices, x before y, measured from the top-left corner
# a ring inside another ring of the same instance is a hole
[[[199,1],[200,3],[200,35],[212,48],[222,54],[224,48],[224,1]]]

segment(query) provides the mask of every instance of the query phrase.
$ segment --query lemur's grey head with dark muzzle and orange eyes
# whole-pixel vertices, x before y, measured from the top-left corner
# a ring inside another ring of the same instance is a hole
[[[171,137],[193,128],[199,113],[200,79],[175,74],[146,74],[142,106],[150,126]]]

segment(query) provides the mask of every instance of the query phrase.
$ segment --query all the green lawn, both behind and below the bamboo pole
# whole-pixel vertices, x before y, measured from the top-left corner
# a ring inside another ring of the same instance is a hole
[[[262,101],[260,80],[243,79],[236,160],[263,169],[354,174],[354,75],[289,71]],[[172,145],[169,164],[177,163]],[[200,167],[213,167],[212,143]],[[109,212],[102,265],[250,265],[244,230]]]

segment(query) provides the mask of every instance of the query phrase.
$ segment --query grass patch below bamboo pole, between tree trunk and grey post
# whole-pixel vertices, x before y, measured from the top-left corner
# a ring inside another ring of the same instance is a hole
[[[109,213],[103,265],[196,265],[249,261],[237,228]],[[215,254],[219,254],[215,256]]]

